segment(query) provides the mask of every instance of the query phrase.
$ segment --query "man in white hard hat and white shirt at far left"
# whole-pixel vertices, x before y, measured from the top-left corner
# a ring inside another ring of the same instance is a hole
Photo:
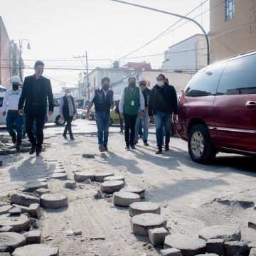
[[[6,116],[6,128],[9,132],[12,142],[16,144],[17,151],[21,150],[21,139],[22,139],[22,124],[23,117],[18,114],[18,100],[21,97],[21,80],[18,76],[14,75],[11,78],[12,89],[8,90],[4,96],[3,101],[3,116]],[[8,109],[8,110],[7,110]],[[14,125],[16,132],[14,131]]]

